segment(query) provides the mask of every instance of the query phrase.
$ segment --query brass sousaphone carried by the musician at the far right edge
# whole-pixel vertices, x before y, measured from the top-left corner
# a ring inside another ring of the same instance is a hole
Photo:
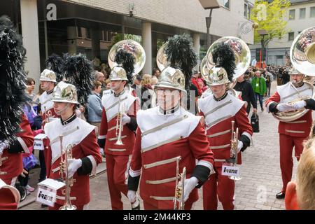
[[[315,78],[315,27],[304,29],[304,31],[295,38],[290,48],[290,61],[293,68],[306,76],[303,80],[304,84],[309,86],[312,93],[307,96],[302,95],[302,92],[297,92],[297,97],[293,101],[287,102],[287,104],[294,104],[295,102],[304,99],[314,99],[315,88],[313,80]],[[272,113],[272,115],[274,118],[282,122],[290,122],[301,118],[308,111],[308,109],[300,109],[295,111]]]

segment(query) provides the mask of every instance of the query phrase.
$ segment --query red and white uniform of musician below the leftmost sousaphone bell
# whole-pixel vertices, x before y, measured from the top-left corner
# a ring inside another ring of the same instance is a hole
[[[118,118],[118,104],[123,107],[127,116],[131,118],[130,124],[123,125],[121,134],[123,145],[117,146],[116,124]],[[106,91],[102,97],[104,106],[102,114],[101,128],[99,130],[99,140],[105,140],[104,147],[106,154],[106,171],[109,182],[109,193],[111,195],[112,209],[123,210],[121,193],[127,195],[127,169],[129,166],[129,157],[134,147],[135,134],[137,128],[137,111],[139,101],[128,92],[123,92],[119,96],[111,91]],[[134,127],[131,127],[134,126]]]

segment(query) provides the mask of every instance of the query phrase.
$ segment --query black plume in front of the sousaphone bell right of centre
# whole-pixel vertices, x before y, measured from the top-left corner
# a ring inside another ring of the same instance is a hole
[[[219,43],[212,52],[214,63],[218,67],[223,67],[228,73],[228,78],[232,82],[233,74],[235,73],[235,54],[227,43]]]

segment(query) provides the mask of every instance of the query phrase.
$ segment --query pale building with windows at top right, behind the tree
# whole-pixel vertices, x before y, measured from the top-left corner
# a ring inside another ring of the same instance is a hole
[[[286,20],[288,21],[288,34],[276,38],[267,45],[267,64],[283,65],[290,55],[290,47],[301,31],[315,26],[315,1],[290,0],[290,7]],[[261,48],[260,44],[250,46],[251,57],[255,58],[255,49]],[[259,60],[259,59],[257,59]]]

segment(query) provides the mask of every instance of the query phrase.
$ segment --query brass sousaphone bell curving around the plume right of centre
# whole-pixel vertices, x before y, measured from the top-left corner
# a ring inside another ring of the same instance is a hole
[[[226,43],[230,45],[234,54],[235,54],[235,74],[233,75],[233,82],[228,86],[229,92],[237,97],[237,92],[233,89],[234,85],[237,82],[237,78],[245,73],[248,69],[249,64],[251,63],[251,50],[249,50],[248,45],[235,36],[224,36],[219,38],[217,41],[214,41],[210,48],[207,51],[207,55],[202,59],[202,63],[200,64],[200,71],[202,76],[206,77],[208,80],[209,70],[216,66],[213,59],[213,52],[216,46],[220,43]],[[211,90],[210,90],[211,91]]]

